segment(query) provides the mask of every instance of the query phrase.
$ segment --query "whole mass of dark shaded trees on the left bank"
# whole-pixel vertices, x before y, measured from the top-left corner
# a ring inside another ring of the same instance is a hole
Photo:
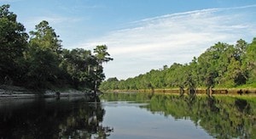
[[[65,49],[45,20],[26,33],[9,5],[0,7],[0,85],[30,89],[92,89],[104,80],[106,45],[90,50]]]

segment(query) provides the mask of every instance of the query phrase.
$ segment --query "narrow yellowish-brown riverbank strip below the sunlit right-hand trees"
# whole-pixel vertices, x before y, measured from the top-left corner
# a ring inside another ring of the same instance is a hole
[[[173,89],[138,89],[138,90],[108,90],[104,92],[156,92],[156,93],[170,93],[177,94],[180,92],[179,88]],[[184,93],[188,93],[189,90],[184,88]],[[197,88],[195,90],[197,94],[207,94],[206,88]],[[226,95],[256,95],[256,88],[212,88],[212,95],[214,94],[226,94]]]

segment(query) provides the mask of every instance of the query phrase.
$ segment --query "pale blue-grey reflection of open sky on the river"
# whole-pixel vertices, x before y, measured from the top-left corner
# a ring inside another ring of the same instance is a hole
[[[212,138],[191,120],[152,114],[145,103],[103,102],[106,110],[102,125],[113,127],[110,138]]]

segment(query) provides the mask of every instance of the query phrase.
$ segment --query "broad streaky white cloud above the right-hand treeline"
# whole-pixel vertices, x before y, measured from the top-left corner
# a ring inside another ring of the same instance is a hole
[[[256,25],[248,17],[253,14],[250,11],[255,13],[255,7],[211,8],[142,19],[130,23],[130,28],[97,38],[100,42],[79,47],[106,44],[114,58],[105,65],[107,77],[125,79],[164,64],[188,63],[216,42],[252,39]]]

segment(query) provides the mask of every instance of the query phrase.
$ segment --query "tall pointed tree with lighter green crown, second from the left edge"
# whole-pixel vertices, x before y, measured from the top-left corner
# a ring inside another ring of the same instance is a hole
[[[57,73],[60,72],[61,41],[47,21],[36,25],[36,31],[30,31],[30,34],[32,37],[26,51],[26,86],[47,88],[57,81]]]

